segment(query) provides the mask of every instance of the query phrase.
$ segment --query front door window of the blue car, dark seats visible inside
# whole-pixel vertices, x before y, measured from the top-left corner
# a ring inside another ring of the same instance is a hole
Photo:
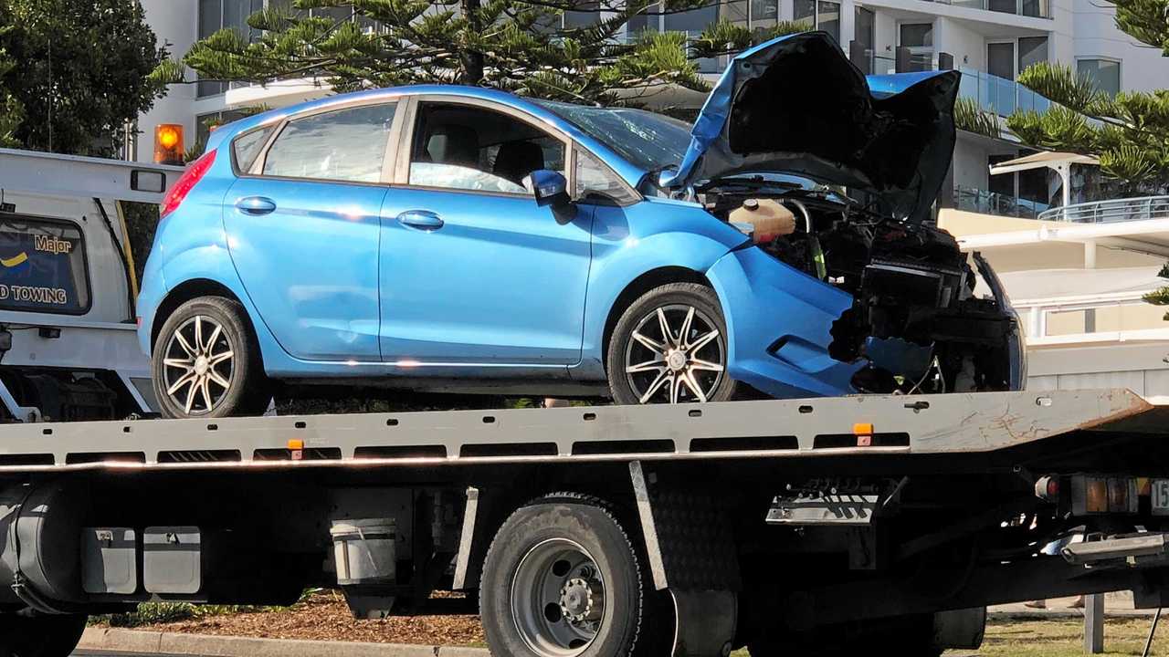
[[[419,106],[410,185],[528,194],[524,178],[538,170],[565,172],[563,141],[484,108],[451,103]]]

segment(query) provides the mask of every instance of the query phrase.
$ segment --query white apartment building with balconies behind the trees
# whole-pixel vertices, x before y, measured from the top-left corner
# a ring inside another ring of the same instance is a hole
[[[160,41],[175,55],[223,27],[248,30],[247,18],[265,4],[290,0],[140,0]],[[318,9],[341,14],[347,9]],[[1169,88],[1169,58],[1115,27],[1114,9],[1101,0],[733,0],[719,6],[630,21],[628,29],[699,32],[719,18],[748,27],[800,20],[829,32],[862,70],[884,74],[955,68],[964,74],[962,96],[984,110],[1008,116],[1016,109],[1047,106],[1046,99],[1014,81],[1028,65],[1058,61],[1092,75],[1101,89]],[[584,23],[595,14],[566,16]],[[722,62],[701,62],[712,76]],[[228,88],[220,83],[174,85],[139,119],[137,159],[150,159],[153,126],[181,124],[187,144],[206,134],[208,118],[230,119],[240,108],[282,106],[320,97],[328,90],[312,81]],[[1017,144],[962,133],[955,150],[952,185],[942,206],[1033,217],[1052,203],[1057,189],[1044,172],[988,175],[988,165],[1025,154]]]

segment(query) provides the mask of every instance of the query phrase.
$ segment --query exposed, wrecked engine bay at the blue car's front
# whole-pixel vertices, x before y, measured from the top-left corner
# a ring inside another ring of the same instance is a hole
[[[867,361],[857,392],[1018,389],[1019,327],[985,261],[973,256],[991,293],[976,295],[978,275],[949,233],[826,189],[721,186],[705,205],[773,257],[852,295],[829,354]]]

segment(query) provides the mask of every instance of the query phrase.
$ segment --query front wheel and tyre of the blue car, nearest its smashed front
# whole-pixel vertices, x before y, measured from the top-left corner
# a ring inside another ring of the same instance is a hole
[[[655,288],[625,309],[609,339],[606,372],[613,401],[727,401],[738,389],[726,372],[728,353],[714,290],[698,283]]]

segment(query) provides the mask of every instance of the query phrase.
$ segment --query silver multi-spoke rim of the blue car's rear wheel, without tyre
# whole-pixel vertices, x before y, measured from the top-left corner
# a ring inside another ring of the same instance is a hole
[[[210,413],[231,389],[235,350],[220,323],[205,314],[171,334],[162,358],[166,395],[186,415]]]

